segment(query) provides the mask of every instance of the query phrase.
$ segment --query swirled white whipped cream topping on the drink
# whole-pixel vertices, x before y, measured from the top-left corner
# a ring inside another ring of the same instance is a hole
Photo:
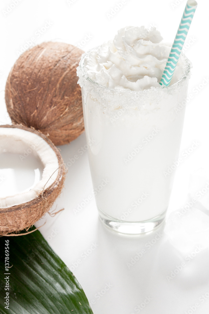
[[[160,87],[172,44],[162,43],[155,27],[127,26],[113,40],[89,51],[84,58],[87,76],[95,83],[112,89],[134,91]],[[183,74],[181,57],[170,84]]]

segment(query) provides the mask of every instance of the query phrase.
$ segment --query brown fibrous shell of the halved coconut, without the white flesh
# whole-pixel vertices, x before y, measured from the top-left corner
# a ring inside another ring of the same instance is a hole
[[[20,128],[39,135],[55,151],[60,165],[55,182],[37,198],[20,205],[0,208],[0,236],[5,236],[11,232],[28,229],[52,207],[64,186],[66,171],[60,151],[44,134],[22,125],[0,125],[0,127]]]

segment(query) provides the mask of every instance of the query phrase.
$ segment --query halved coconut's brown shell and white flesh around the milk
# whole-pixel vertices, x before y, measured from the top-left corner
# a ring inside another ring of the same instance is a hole
[[[30,190],[0,198],[0,235],[34,225],[50,209],[65,181],[65,165],[59,150],[33,128],[0,125],[0,154],[4,153],[19,154],[20,158],[34,154],[42,163],[43,172]]]

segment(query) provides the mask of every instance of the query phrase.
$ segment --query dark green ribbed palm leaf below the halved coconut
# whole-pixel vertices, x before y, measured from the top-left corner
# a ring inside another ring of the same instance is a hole
[[[5,270],[5,240],[9,240],[9,271]],[[93,314],[86,295],[41,233],[1,237],[1,314]],[[6,275],[4,275],[6,273]],[[5,290],[9,276],[9,290]],[[9,309],[5,308],[6,291]]]

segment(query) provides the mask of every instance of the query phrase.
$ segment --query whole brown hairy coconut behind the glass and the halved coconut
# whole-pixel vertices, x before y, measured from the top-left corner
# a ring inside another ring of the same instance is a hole
[[[5,100],[12,121],[49,134],[55,145],[76,139],[84,131],[76,76],[82,53],[60,42],[42,43],[25,51],[6,83]]]

